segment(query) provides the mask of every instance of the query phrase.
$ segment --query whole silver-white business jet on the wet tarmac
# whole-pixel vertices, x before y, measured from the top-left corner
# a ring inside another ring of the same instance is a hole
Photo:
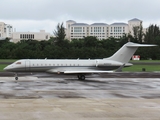
[[[137,44],[128,42],[114,55],[103,59],[22,59],[8,65],[5,71],[15,72],[18,80],[19,72],[47,72],[57,74],[76,74],[78,79],[85,80],[86,74],[111,73],[131,66],[128,63],[138,47],[151,47],[156,45]]]

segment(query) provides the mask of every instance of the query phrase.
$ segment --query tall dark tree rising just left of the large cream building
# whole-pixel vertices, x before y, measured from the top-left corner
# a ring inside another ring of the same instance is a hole
[[[66,36],[63,23],[62,24],[58,23],[57,29],[53,33],[55,35],[56,44],[59,46],[62,45],[62,42],[64,41],[65,36]]]

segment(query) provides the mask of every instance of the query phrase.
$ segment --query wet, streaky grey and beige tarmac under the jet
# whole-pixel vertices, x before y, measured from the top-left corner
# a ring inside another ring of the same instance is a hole
[[[8,76],[7,76],[8,74]],[[159,120],[160,73],[0,73],[0,120]]]

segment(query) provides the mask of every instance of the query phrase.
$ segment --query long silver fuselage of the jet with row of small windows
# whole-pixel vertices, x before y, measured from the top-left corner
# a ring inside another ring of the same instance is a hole
[[[63,72],[66,70],[114,70],[123,63],[106,59],[23,59],[4,68],[10,72]]]

